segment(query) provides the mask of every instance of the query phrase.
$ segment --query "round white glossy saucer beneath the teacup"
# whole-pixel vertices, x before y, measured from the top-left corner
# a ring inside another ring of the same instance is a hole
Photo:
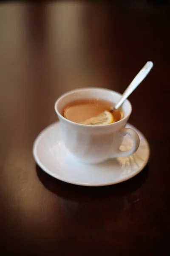
[[[96,165],[83,164],[74,159],[62,141],[60,124],[55,122],[43,130],[36,138],[33,155],[37,164],[49,175],[72,184],[82,186],[105,186],[120,183],[137,175],[147,164],[150,150],[147,140],[135,127],[140,137],[140,145],[130,157],[110,159]],[[132,140],[125,136],[120,147],[127,150]]]

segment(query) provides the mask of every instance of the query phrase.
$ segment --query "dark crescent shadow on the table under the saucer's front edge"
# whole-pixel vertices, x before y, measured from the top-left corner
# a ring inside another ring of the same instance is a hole
[[[88,202],[88,201],[107,201],[109,198],[124,198],[140,189],[148,177],[149,164],[135,177],[122,183],[110,186],[79,186],[63,182],[51,177],[44,172],[37,164],[37,176],[41,183],[49,191],[71,201]]]

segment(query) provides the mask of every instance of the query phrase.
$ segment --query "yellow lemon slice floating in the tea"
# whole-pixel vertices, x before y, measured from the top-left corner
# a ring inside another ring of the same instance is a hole
[[[94,116],[81,122],[83,125],[108,125],[115,122],[113,115],[109,111],[102,112],[99,116]]]

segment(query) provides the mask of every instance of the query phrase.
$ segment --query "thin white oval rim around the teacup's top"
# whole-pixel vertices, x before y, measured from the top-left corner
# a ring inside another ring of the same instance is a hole
[[[57,105],[58,105],[59,101],[62,100],[63,97],[67,96],[67,95],[70,94],[70,93],[74,93],[74,92],[76,93],[76,92],[82,91],[82,90],[104,90],[104,91],[108,91],[108,92],[110,91],[110,92],[112,92],[112,93],[118,94],[119,96],[122,96],[121,93],[118,93],[118,92],[116,92],[116,91],[114,91],[114,90],[111,90],[111,89],[102,88],[102,87],[83,87],[83,88],[79,88],[79,89],[69,90],[68,92],[63,93],[63,94],[56,100],[56,102],[55,102],[55,104],[54,104],[54,109],[55,109],[57,115],[60,117],[60,119],[65,120],[66,122],[68,122],[68,123],[70,123],[70,124],[72,124],[72,125],[77,125],[77,126],[79,126],[79,127],[89,127],[89,128],[90,128],[90,127],[91,127],[91,128],[100,127],[100,128],[101,128],[101,127],[109,127],[109,126],[111,126],[111,125],[116,125],[116,124],[122,122],[122,121],[125,120],[127,117],[129,117],[130,114],[131,114],[131,112],[132,112],[132,105],[131,105],[130,101],[129,101],[128,99],[126,99],[125,102],[128,102],[129,105],[130,105],[130,112],[129,112],[126,116],[124,116],[122,119],[120,119],[119,121],[117,121],[117,122],[113,122],[113,123],[107,124],[107,125],[85,125],[85,124],[80,124],[80,123],[77,123],[77,122],[73,122],[73,121],[71,121],[71,120],[68,120],[67,118],[65,118],[64,116],[62,116],[62,115],[59,113],[59,111],[58,111],[58,109],[57,109]],[[124,102],[124,103],[125,103],[125,102]],[[124,103],[123,103],[123,104],[124,104]]]

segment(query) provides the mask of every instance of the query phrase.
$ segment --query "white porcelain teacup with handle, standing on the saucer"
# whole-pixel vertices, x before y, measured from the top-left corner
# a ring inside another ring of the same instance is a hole
[[[127,157],[139,147],[139,136],[133,129],[125,128],[132,111],[126,100],[122,105],[124,118],[109,125],[83,125],[72,122],[61,115],[62,109],[69,102],[78,99],[99,98],[114,104],[121,94],[103,88],[82,88],[63,94],[55,102],[55,111],[59,117],[66,148],[83,163],[101,163],[109,158]],[[133,147],[127,151],[119,149],[123,137],[129,134]]]

